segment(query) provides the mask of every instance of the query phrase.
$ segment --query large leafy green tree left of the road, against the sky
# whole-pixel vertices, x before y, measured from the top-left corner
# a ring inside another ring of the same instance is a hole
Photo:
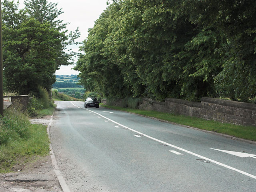
[[[22,10],[14,1],[3,2],[4,74],[9,90],[37,95],[40,86],[50,90],[60,65],[70,64],[73,53],[65,50],[79,33],[66,35],[56,4],[32,1],[39,10],[29,2]]]

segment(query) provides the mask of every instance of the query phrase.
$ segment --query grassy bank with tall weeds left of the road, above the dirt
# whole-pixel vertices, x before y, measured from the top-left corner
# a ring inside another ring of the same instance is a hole
[[[0,120],[0,172],[15,171],[31,159],[49,153],[46,126],[30,124],[20,111],[5,110]]]

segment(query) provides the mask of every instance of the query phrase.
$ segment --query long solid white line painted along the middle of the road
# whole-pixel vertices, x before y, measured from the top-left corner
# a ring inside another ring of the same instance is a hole
[[[72,103],[72,102],[70,101],[70,103]],[[72,103],[72,104],[73,104],[73,103]],[[74,104],[73,104],[73,105],[74,105]],[[74,105],[74,106],[76,106],[76,105]],[[86,110],[88,110],[88,109],[86,109]],[[88,110],[88,111],[91,111],[91,110]],[[94,111],[91,111],[91,112],[94,112]],[[96,113],[96,112],[94,112],[94,113]],[[225,164],[220,163],[220,162],[218,162],[218,161],[209,159],[209,158],[207,158],[207,157],[198,155],[198,154],[193,153],[193,152],[191,152],[191,151],[188,151],[188,150],[186,150],[186,149],[180,148],[180,147],[178,147],[178,146],[175,146],[175,145],[169,144],[169,143],[167,143],[167,142],[161,141],[161,140],[159,140],[159,139],[156,139],[156,138],[154,138],[154,137],[148,136],[148,135],[146,135],[146,134],[144,134],[144,133],[138,132],[138,131],[136,131],[136,130],[134,130],[134,129],[132,129],[132,128],[129,128],[129,127],[125,126],[125,125],[122,125],[122,124],[120,124],[120,123],[118,123],[118,122],[115,122],[114,120],[111,120],[111,119],[109,119],[109,118],[107,118],[107,117],[105,117],[105,116],[103,116],[103,115],[101,115],[101,114],[99,114],[99,113],[96,113],[96,114],[102,116],[103,118],[105,118],[105,119],[107,119],[107,120],[109,120],[109,121],[111,121],[111,122],[113,122],[113,123],[115,123],[115,124],[118,124],[118,125],[120,125],[120,126],[126,128],[126,129],[128,129],[128,130],[130,130],[130,131],[133,131],[133,132],[135,132],[135,133],[138,133],[139,135],[143,135],[143,136],[145,136],[145,137],[147,137],[147,138],[150,138],[150,139],[155,140],[155,141],[157,141],[157,142],[160,142],[160,143],[162,143],[162,144],[166,144],[167,146],[176,148],[176,149],[178,149],[178,150],[180,150],[180,151],[183,151],[183,152],[186,152],[186,153],[188,153],[188,154],[194,155],[194,156],[199,157],[199,158],[201,158],[201,159],[208,160],[208,161],[210,161],[210,162],[212,162],[212,163],[215,163],[215,164],[217,164],[217,165],[219,165],[219,166],[228,168],[228,169],[230,169],[230,170],[236,171],[236,172],[238,172],[238,173],[241,173],[241,174],[244,174],[244,175],[246,175],[246,176],[248,176],[248,177],[251,177],[251,178],[256,179],[256,176],[255,176],[255,175],[249,174],[249,173],[247,173],[247,172],[241,171],[241,170],[236,169],[236,168],[234,168],[234,167],[225,165]]]

